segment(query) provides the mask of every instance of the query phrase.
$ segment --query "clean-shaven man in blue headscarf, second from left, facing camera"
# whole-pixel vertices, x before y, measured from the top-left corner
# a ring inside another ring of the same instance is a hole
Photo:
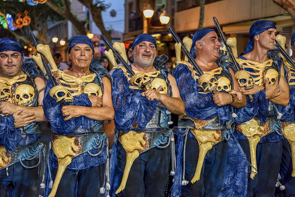
[[[68,53],[71,67],[51,70],[58,86],[48,83],[45,89],[44,111],[53,132],[50,163],[55,177],[49,196],[55,192],[56,196],[97,196],[100,189],[104,193],[104,186],[110,189],[108,163],[103,165],[108,158],[103,125],[104,120],[114,118],[111,76],[101,66],[102,59],[94,59],[93,44],[87,36],[73,37]],[[68,104],[61,106],[55,99]],[[60,173],[62,169],[64,173]]]

